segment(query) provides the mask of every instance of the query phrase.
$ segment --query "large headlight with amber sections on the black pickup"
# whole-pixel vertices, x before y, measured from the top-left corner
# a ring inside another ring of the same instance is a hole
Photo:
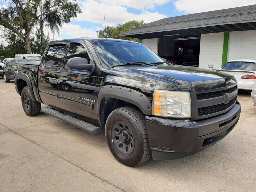
[[[155,90],[153,115],[168,117],[191,117],[189,92]]]

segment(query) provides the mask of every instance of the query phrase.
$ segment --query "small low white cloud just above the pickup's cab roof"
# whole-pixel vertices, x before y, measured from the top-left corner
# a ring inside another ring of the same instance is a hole
[[[93,28],[82,28],[79,25],[65,24],[60,31],[60,35],[68,35],[71,38],[76,37],[97,37]],[[59,37],[57,37],[59,39]]]

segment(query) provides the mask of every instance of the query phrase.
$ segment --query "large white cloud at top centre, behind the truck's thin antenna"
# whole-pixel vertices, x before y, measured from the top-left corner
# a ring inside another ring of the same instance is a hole
[[[160,2],[166,1],[167,0],[160,0]],[[140,3],[140,1],[138,2]],[[125,4],[126,6],[128,6],[128,0],[120,3],[122,5],[110,3],[110,0],[102,0],[102,2],[88,0],[81,3],[81,10],[83,13],[79,14],[75,20],[101,23],[102,26],[104,26],[103,12],[105,12],[106,25],[109,26],[115,26],[116,24],[124,23],[130,20],[144,20],[146,23],[149,23],[166,17],[166,15],[160,14],[158,12],[152,13],[148,11],[143,11],[141,14],[130,13],[127,11],[127,8],[125,6],[122,6]],[[136,5],[135,2],[134,5]],[[149,6],[149,4],[144,3],[140,6],[145,7]]]

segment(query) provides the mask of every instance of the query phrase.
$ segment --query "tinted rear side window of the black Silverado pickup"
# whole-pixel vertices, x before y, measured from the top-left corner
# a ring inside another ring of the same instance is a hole
[[[61,56],[64,52],[65,45],[52,45],[49,47],[46,57],[44,66],[45,67],[60,67],[61,66]]]

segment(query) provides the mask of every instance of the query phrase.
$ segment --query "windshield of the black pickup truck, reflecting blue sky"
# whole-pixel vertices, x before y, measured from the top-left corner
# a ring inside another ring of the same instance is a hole
[[[105,65],[112,67],[132,62],[163,62],[160,57],[143,44],[121,41],[92,42]],[[107,52],[108,51],[108,52]]]

